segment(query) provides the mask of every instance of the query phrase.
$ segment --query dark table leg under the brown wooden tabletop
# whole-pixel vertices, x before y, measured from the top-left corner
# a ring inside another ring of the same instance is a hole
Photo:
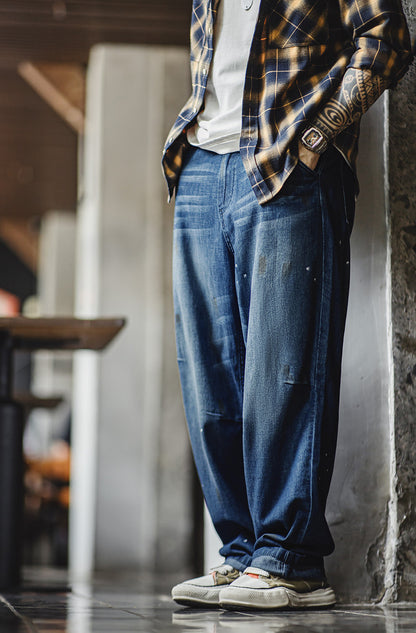
[[[0,333],[0,590],[20,584],[23,409],[12,399],[13,340]]]

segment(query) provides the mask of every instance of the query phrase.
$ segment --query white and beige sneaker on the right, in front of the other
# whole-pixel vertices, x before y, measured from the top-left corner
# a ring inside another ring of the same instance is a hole
[[[332,607],[335,594],[325,581],[287,580],[248,567],[219,600],[224,609],[311,609]]]

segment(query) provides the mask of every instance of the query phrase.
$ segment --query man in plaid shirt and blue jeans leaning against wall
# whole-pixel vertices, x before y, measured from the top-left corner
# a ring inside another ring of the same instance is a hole
[[[194,0],[165,146],[185,412],[225,562],[181,604],[325,607],[359,122],[411,61],[400,0]]]

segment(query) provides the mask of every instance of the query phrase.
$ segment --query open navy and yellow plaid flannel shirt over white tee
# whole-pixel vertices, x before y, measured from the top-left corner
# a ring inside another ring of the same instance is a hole
[[[192,95],[165,144],[163,169],[175,190],[186,130],[203,107],[219,0],[194,0]],[[223,0],[226,1],[226,0]],[[411,45],[400,0],[262,0],[246,70],[240,153],[260,204],[298,161],[298,139],[333,96],[347,68],[370,69],[388,87],[406,72]],[[333,140],[355,171],[359,121]]]

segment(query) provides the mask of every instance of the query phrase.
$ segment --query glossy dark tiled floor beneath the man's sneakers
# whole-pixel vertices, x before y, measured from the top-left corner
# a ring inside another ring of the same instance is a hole
[[[416,632],[416,604],[303,613],[196,610],[170,600],[166,578],[161,585],[160,578],[97,577],[91,585],[74,584],[72,591],[65,591],[65,580],[43,571],[27,579],[24,591],[1,595],[0,633]]]

